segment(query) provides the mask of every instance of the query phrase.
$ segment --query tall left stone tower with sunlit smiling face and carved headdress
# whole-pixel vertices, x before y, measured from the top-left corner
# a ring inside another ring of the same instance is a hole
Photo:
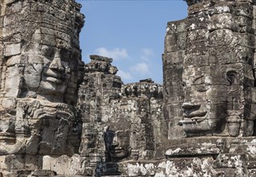
[[[4,176],[25,175],[42,169],[44,155],[78,152],[72,96],[82,76],[84,17],[73,0],[2,0],[0,6],[0,169]]]

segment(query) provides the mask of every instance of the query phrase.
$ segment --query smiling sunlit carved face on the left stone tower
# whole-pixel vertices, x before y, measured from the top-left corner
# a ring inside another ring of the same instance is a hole
[[[64,93],[76,91],[81,56],[78,49],[61,45],[60,41],[55,43],[54,38],[56,36],[36,31],[31,43],[23,47],[22,58],[27,62],[23,89],[50,101],[62,102]],[[52,45],[47,44],[47,39]]]

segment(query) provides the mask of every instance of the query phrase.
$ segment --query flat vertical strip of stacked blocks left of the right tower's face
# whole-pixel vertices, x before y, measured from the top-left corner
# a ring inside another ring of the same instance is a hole
[[[169,139],[186,135],[178,126],[183,116],[181,105],[184,100],[183,62],[185,57],[187,19],[170,22],[166,28],[163,64],[164,117],[169,124]]]

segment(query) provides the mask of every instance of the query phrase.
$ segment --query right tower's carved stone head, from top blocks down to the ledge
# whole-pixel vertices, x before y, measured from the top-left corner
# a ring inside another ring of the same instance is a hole
[[[187,2],[188,19],[168,24],[163,56],[166,113],[169,113],[166,116],[171,117],[170,127],[179,131],[170,132],[170,138],[253,135],[255,105],[246,96],[246,90],[254,90],[255,80],[254,39],[251,39],[253,6],[251,2]],[[244,9],[246,13],[241,14]],[[246,27],[239,25],[245,21]],[[181,37],[186,43],[170,41]],[[178,94],[178,100],[170,100],[170,93],[176,87],[182,89],[174,93]],[[178,106],[183,112],[174,112]],[[240,127],[237,133],[229,129],[234,119],[230,117],[232,112],[240,117],[236,118]]]

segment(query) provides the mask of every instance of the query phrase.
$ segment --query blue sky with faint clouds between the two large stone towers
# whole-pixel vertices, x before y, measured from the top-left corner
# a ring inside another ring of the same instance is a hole
[[[86,23],[82,59],[93,54],[113,58],[124,83],[152,78],[162,84],[162,53],[167,22],[184,19],[187,3],[169,1],[77,0]]]

